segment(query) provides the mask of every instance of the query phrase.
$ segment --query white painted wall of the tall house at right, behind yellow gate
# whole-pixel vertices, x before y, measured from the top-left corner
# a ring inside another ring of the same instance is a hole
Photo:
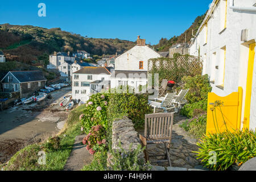
[[[224,1],[224,0],[221,0]],[[223,30],[223,20],[221,18],[223,2],[219,3],[213,11],[211,18],[208,21],[207,44],[204,44],[204,32],[201,31],[197,35],[197,39],[192,44],[189,53],[193,56],[199,55],[203,58],[205,56],[205,63],[203,70],[210,76],[214,77],[215,84],[212,84],[212,92],[218,96],[227,96],[232,92],[237,92],[238,86],[243,88],[243,106],[246,93],[246,78],[247,78],[247,63],[249,55],[249,44],[255,42],[256,39],[256,11],[240,11],[230,9],[230,1],[228,0],[228,9],[226,15],[226,29]],[[254,0],[234,1],[234,6],[253,7]],[[256,7],[255,7],[256,9]],[[247,42],[241,41],[241,31],[247,29],[248,37]],[[226,59],[225,59],[225,77],[224,77],[224,90],[216,87],[216,85],[223,82],[223,75],[221,67],[223,51],[222,47],[226,46]],[[213,53],[216,53],[215,57]],[[256,56],[255,56],[256,59]],[[216,65],[219,69],[215,69]],[[214,72],[213,72],[214,71]],[[251,110],[250,110],[250,129],[256,127],[256,60],[254,60],[254,73],[253,73],[253,90],[251,95]],[[210,78],[212,80],[212,78]],[[221,81],[222,80],[222,81]],[[242,111],[242,119],[243,119]]]

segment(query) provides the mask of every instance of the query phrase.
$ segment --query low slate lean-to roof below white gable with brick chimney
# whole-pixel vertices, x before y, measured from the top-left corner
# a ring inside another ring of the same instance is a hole
[[[111,77],[116,78],[147,78],[147,71],[117,71],[115,70]]]

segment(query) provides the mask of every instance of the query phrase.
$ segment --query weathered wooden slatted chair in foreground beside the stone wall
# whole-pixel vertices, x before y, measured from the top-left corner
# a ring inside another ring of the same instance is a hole
[[[174,123],[174,113],[157,113],[145,115],[145,129],[144,137],[139,135],[142,146],[146,146],[144,151],[145,159],[148,161],[150,156],[166,156],[167,159],[156,160],[152,163],[168,162],[171,166],[171,158],[169,154],[171,139],[172,139],[172,127]],[[164,155],[148,155],[147,144],[163,143],[166,149]],[[167,145],[168,144],[168,145]]]

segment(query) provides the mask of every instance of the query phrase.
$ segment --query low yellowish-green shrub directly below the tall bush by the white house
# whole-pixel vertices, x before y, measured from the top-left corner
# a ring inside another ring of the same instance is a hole
[[[207,111],[207,100],[202,100],[199,102],[194,102],[192,104],[186,104],[180,110],[180,114],[187,116],[188,118],[196,117],[201,113]]]

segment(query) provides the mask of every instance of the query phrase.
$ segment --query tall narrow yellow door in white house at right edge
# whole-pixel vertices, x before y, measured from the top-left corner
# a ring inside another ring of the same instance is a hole
[[[243,130],[249,129],[250,124],[250,107],[251,107],[251,89],[253,86],[253,66],[255,57],[255,43],[249,46],[249,60],[246,80],[246,95],[245,95],[245,114],[243,117]]]

